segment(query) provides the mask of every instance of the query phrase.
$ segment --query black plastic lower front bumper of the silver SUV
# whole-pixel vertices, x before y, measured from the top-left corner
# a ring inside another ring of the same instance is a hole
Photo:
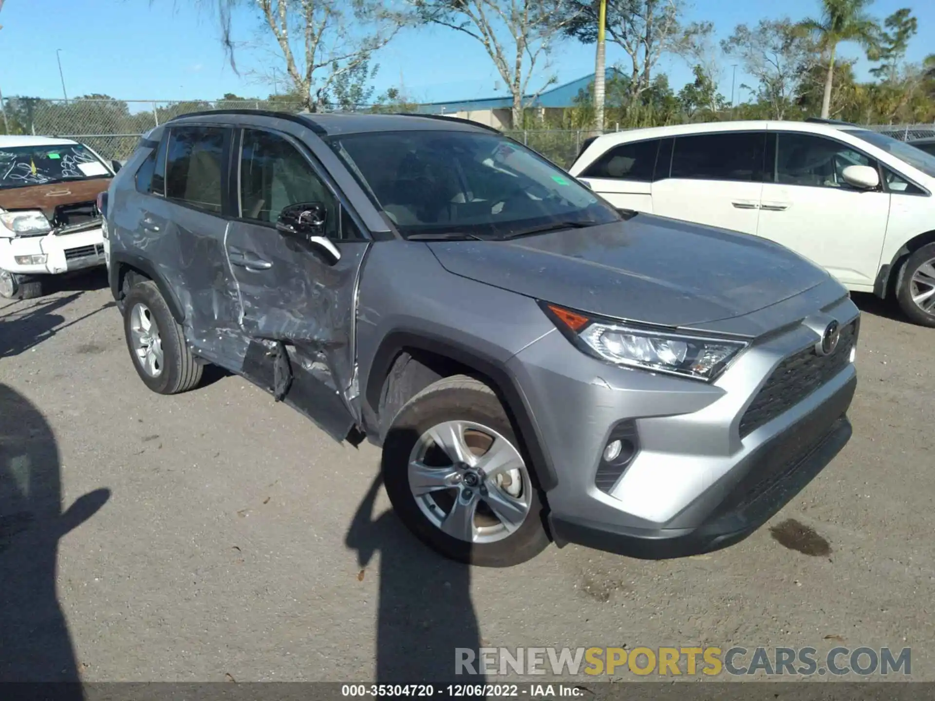
[[[726,548],[752,534],[798,494],[851,437],[851,378],[824,404],[763,443],[669,523],[632,528],[550,515],[555,543],[661,560]],[[698,521],[694,526],[670,523]]]

